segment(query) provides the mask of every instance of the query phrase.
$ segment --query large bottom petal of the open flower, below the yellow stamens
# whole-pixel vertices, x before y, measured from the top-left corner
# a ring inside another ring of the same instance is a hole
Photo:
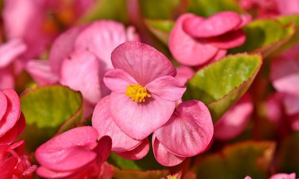
[[[175,101],[152,94],[145,102],[135,102],[125,94],[111,92],[109,107],[113,120],[124,133],[143,140],[170,118]]]

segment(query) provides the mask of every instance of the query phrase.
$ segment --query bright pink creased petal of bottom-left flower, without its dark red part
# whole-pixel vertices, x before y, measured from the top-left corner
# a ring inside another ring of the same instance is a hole
[[[93,127],[77,127],[39,146],[35,151],[35,158],[49,170],[76,170],[96,158],[97,154],[91,150],[96,147],[97,138],[98,133]]]

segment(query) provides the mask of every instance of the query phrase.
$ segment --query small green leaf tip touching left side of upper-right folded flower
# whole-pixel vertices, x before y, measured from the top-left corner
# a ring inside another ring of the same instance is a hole
[[[174,26],[174,21],[145,19],[145,24],[153,35],[165,45],[168,45],[168,36]]]

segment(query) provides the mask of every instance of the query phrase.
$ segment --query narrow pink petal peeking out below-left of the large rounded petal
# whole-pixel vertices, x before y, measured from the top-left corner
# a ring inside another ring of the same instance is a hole
[[[171,167],[182,163],[186,157],[179,157],[170,152],[168,152],[164,146],[159,142],[159,140],[152,134],[151,139],[152,149],[154,158],[157,162],[163,166]]]

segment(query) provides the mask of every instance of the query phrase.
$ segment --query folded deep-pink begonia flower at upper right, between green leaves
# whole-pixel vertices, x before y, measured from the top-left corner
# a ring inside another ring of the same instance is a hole
[[[245,42],[241,28],[250,20],[250,15],[233,11],[219,12],[209,18],[182,14],[170,32],[169,50],[182,65],[198,66],[217,61],[225,56],[227,49]]]

